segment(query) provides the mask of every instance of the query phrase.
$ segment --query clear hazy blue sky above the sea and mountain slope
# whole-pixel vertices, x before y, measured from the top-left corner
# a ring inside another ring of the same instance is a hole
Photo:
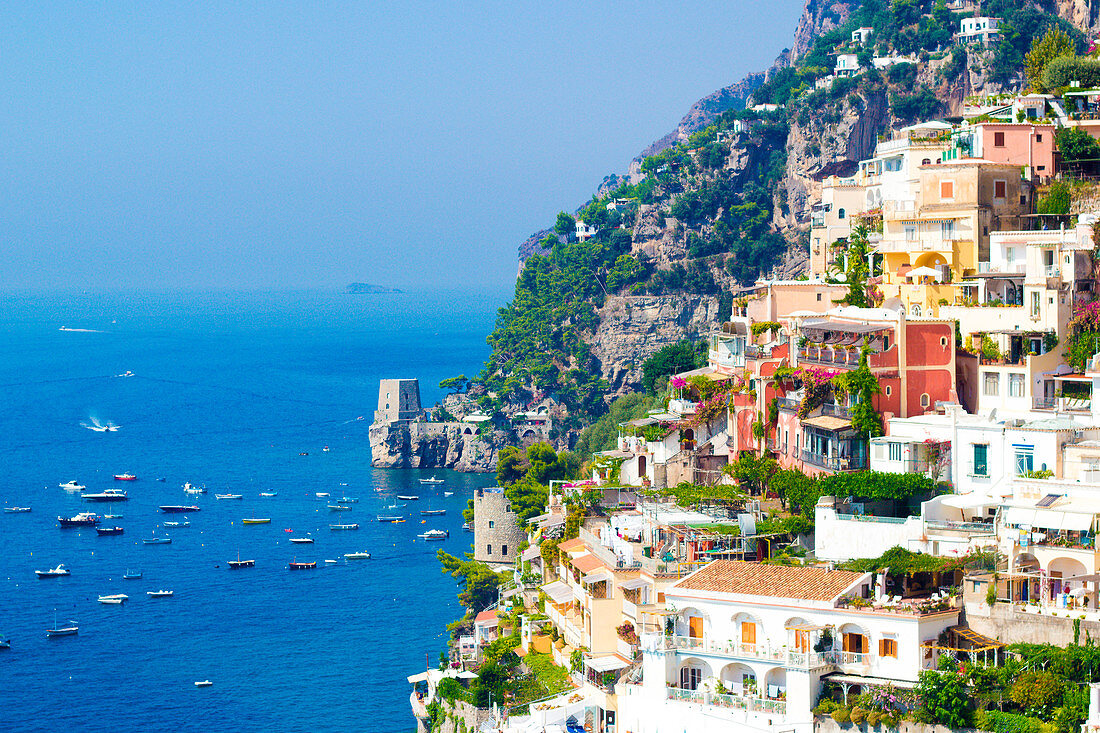
[[[499,286],[801,9],[11,3],[0,288]]]

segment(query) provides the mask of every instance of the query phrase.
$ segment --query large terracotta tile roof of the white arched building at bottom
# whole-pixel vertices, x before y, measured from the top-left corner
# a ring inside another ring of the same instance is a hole
[[[826,570],[822,567],[787,568],[744,560],[715,560],[678,582],[674,588],[829,601],[864,575],[849,570]]]

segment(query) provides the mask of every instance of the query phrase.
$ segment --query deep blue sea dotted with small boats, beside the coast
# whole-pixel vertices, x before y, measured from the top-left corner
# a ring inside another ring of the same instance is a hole
[[[0,730],[414,730],[405,677],[438,664],[461,614],[436,550],[470,549],[462,510],[493,477],[372,469],[377,381],[419,378],[435,403],[441,379],[480,370],[506,297],[0,295],[0,504],[32,507],[0,514],[0,635],[11,639]],[[120,427],[86,427],[97,424]],[[124,472],[138,481],[113,480]],[[446,483],[419,483],[431,475]],[[131,499],[81,502],[58,486],[73,479]],[[209,493],[185,494],[185,482]],[[324,492],[360,501],[330,512]],[[420,496],[396,510],[408,521],[373,521],[399,493]],[[447,515],[421,522],[422,508]],[[121,514],[105,525],[125,534],[58,528],[58,515],[81,511]],[[190,527],[163,526],[185,516]],[[241,524],[253,516],[272,522]],[[328,528],[344,523],[361,529]],[[418,539],[428,528],[450,538]],[[141,543],[154,533],[172,544]],[[315,544],[288,541],[307,534]],[[372,558],[342,559],[359,550]],[[255,567],[230,570],[238,557]],[[289,571],[293,559],[319,567]],[[70,577],[35,577],[59,562]],[[128,569],[144,577],[123,580]],[[146,595],[160,589],[175,595]],[[130,600],[97,602],[108,593]],[[77,636],[46,637],[68,620]]]

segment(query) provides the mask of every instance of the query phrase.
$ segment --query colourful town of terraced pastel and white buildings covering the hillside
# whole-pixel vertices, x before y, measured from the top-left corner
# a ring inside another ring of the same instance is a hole
[[[538,511],[477,492],[504,573],[409,676],[420,730],[1100,729],[1098,139],[1071,79],[825,166],[804,276],[737,293]]]

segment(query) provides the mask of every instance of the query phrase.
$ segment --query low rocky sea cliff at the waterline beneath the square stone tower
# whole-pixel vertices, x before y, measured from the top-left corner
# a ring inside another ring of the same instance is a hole
[[[376,423],[371,426],[371,466],[496,471],[503,436],[483,440],[464,434],[466,429],[469,425],[453,423]]]

